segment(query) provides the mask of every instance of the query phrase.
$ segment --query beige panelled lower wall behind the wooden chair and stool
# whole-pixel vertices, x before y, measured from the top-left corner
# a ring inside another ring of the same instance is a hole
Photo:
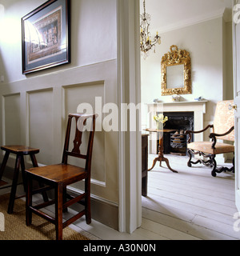
[[[112,60],[3,85],[2,144],[24,144],[39,148],[40,152],[36,155],[39,165],[61,162],[67,115],[77,112],[79,104],[87,103],[94,112],[98,112],[99,118],[104,119],[102,108],[95,109],[95,98],[101,98],[102,106],[107,102],[117,104],[116,71],[116,60]],[[100,119],[97,122],[102,123]],[[83,138],[82,153],[86,150],[85,142]],[[93,207],[111,214],[114,227],[118,226],[116,145],[116,132],[96,131],[91,193],[93,203],[97,206]],[[84,164],[75,160],[70,160],[70,163]],[[9,165],[14,166],[14,158],[10,159]],[[26,167],[30,167],[30,161],[27,161]],[[82,190],[82,184],[76,183],[71,189],[78,192]]]

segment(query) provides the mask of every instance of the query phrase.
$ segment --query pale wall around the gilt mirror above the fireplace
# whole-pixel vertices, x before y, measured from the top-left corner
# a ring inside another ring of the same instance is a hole
[[[192,61],[192,94],[181,95],[182,101],[193,101],[202,96],[209,101],[206,104],[204,122],[213,121],[215,104],[225,97],[226,90],[224,92],[223,86],[232,86],[231,82],[227,82],[229,77],[225,77],[225,82],[223,80],[224,70],[226,67],[231,70],[232,66],[231,60],[225,55],[231,54],[230,45],[226,48],[224,41],[224,37],[228,36],[228,42],[231,42],[229,30],[230,26],[225,26],[222,18],[215,18],[160,34],[162,44],[156,46],[156,53],[150,53],[146,61],[142,58],[142,102],[150,103],[154,98],[161,102],[171,101],[171,96],[161,96],[161,60],[170,51],[170,46],[177,45],[178,49],[190,52]],[[224,57],[228,61],[225,66]],[[146,114],[142,117],[143,122],[145,118]]]

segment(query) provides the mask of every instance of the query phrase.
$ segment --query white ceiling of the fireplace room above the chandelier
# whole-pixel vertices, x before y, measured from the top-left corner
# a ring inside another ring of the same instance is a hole
[[[162,33],[219,17],[224,10],[228,10],[226,13],[230,17],[232,2],[233,0],[146,0],[146,13],[151,17],[151,29]],[[140,13],[143,13],[143,0],[140,0]]]

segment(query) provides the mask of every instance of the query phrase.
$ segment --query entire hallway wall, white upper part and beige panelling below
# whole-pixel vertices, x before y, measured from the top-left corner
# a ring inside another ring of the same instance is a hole
[[[38,162],[46,165],[61,162],[66,117],[77,111],[78,104],[94,106],[96,96],[102,96],[103,103],[117,103],[117,25],[115,0],[71,0],[71,63],[23,75],[21,18],[43,2],[1,1],[0,143],[38,147]],[[96,132],[91,186],[93,202],[97,202],[93,217],[105,218],[100,221],[115,228],[117,145],[113,132]],[[81,188],[81,183],[74,186],[74,190]]]

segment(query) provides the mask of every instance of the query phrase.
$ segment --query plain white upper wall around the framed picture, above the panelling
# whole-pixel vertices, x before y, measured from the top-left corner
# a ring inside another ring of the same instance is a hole
[[[5,82],[29,78],[22,74],[22,30],[21,18],[45,0],[2,0],[4,24],[1,26],[1,58],[4,63],[1,74]],[[110,0],[71,1],[71,51],[72,62],[68,66],[55,68],[66,70],[75,66],[86,66],[117,57],[116,2]],[[46,70],[41,74],[50,74]],[[38,74],[33,74],[36,76]]]

